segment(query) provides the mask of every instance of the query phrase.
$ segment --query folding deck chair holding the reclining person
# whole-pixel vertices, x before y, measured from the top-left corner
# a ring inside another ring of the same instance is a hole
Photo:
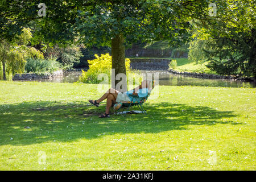
[[[139,109],[142,111],[142,113],[147,114],[146,110],[144,110],[142,105],[144,104],[144,102],[147,101],[147,98],[150,96],[150,93],[151,93],[152,89],[154,89],[155,81],[151,81],[151,84],[152,84],[151,90],[148,90],[147,96],[145,96],[145,97],[138,97],[138,96],[134,96],[133,94],[130,94],[129,96],[132,97],[132,100],[129,101],[129,102],[119,102],[118,104],[122,104],[122,106],[119,107],[119,109],[116,110],[114,112],[114,114],[117,114],[121,110],[122,110],[121,111],[122,114],[123,114],[124,111],[126,111],[125,112],[125,114],[126,114],[129,111],[130,107],[133,107],[133,106],[136,106],[136,105],[139,107]]]

